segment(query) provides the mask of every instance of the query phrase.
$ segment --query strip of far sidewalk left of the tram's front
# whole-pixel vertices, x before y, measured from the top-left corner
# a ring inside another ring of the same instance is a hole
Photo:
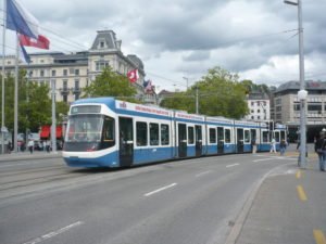
[[[59,158],[62,157],[61,151],[57,151],[55,153],[43,152],[43,151],[34,151],[33,154],[29,151],[18,152],[18,153],[10,153],[10,154],[0,154],[0,163],[13,162],[13,160],[26,160],[26,159],[40,159],[40,158]]]

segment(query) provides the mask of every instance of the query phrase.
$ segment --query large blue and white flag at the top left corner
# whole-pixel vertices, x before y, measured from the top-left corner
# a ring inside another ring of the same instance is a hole
[[[38,21],[15,0],[7,1],[7,28],[37,39]]]

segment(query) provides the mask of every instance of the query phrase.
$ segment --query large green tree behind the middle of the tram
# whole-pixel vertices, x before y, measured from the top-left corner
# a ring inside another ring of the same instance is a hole
[[[238,82],[238,75],[221,67],[209,69],[202,80],[196,82],[188,91],[181,93],[184,98],[166,98],[163,106],[175,110],[196,112],[196,89],[199,89],[199,113],[210,116],[242,118],[248,114],[244,101],[246,87]]]

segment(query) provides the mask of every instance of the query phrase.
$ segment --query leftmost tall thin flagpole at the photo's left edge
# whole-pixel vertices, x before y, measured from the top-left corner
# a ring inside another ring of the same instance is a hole
[[[3,1],[3,30],[2,30],[2,103],[1,103],[1,153],[4,154],[4,56],[5,56],[5,18],[7,1]]]

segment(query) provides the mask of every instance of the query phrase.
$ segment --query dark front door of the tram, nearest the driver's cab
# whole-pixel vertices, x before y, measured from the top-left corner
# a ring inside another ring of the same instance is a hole
[[[126,167],[133,164],[134,158],[134,133],[133,119],[118,118],[120,128],[120,166]]]

